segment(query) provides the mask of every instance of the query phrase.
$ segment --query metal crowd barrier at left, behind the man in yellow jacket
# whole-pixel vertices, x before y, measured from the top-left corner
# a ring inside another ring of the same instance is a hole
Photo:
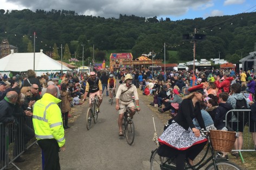
[[[0,170],[18,168],[14,161],[36,143],[31,116],[15,117],[14,123],[0,123]]]

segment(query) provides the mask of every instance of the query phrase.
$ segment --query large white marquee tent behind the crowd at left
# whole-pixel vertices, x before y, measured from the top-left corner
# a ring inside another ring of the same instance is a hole
[[[35,72],[37,76],[47,72],[60,72],[61,65],[63,73],[72,70],[43,54],[43,50],[40,50],[40,53],[35,53]],[[7,74],[9,76],[10,71],[23,72],[29,69],[34,70],[34,53],[13,53],[11,51],[10,55],[0,59],[0,73],[2,75]]]

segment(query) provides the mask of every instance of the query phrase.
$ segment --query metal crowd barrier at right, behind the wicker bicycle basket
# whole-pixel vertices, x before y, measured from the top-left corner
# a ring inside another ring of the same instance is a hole
[[[238,117],[239,114],[242,114],[242,121],[234,121],[234,119],[232,119],[233,116]],[[239,156],[242,160],[242,162],[244,162],[244,158],[242,157],[241,152],[255,152],[255,145],[254,145],[254,141],[256,140],[256,129],[255,129],[255,123],[250,120],[250,114],[251,114],[251,109],[244,109],[244,110],[238,110],[238,109],[233,109],[233,110],[229,110],[226,114],[226,119],[225,119],[225,126],[229,126],[231,127],[235,132],[239,132],[238,128],[241,126],[243,129],[242,134],[242,141],[236,139],[236,148],[238,149],[233,149],[232,152],[238,152]],[[231,117],[231,120],[229,119]],[[245,118],[248,117],[248,121],[245,120]],[[229,120],[228,120],[229,119]],[[251,132],[250,132],[250,127],[251,127]],[[254,133],[254,139],[252,139],[252,133]],[[242,143],[241,143],[242,142]],[[255,142],[256,144],[256,142]],[[239,149],[239,146],[241,149]]]

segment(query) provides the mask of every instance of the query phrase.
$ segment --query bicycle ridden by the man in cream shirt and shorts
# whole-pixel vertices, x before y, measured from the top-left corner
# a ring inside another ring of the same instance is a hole
[[[132,145],[132,143],[135,139],[135,126],[134,126],[133,120],[130,117],[131,110],[130,110],[129,106],[125,106],[125,107],[120,108],[120,109],[125,109],[124,117],[123,117],[123,120],[122,120],[123,134],[124,134],[124,136],[126,136],[127,143],[129,145]],[[136,111],[137,111],[137,109],[136,109]]]

